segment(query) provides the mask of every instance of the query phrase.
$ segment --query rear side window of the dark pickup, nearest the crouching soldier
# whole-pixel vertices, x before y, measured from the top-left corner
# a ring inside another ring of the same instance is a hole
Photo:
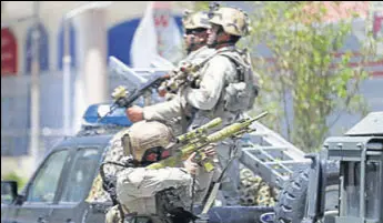
[[[97,149],[80,149],[75,153],[60,202],[80,202],[88,195],[89,186],[99,170],[100,155]]]

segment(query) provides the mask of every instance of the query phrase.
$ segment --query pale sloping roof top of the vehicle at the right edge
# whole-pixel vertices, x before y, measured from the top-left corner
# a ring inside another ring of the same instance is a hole
[[[383,111],[369,113],[351,128],[345,135],[383,135]]]

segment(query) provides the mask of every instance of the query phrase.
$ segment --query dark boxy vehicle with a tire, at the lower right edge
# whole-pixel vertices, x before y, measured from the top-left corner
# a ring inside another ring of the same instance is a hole
[[[275,222],[383,222],[383,112],[370,113],[343,136],[326,139],[320,154],[306,156],[311,168],[281,192]]]

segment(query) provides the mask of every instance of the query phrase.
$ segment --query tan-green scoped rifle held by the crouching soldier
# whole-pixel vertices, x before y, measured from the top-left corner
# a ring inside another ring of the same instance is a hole
[[[254,129],[250,129],[250,125],[254,121],[265,116],[269,112],[263,112],[255,118],[242,119],[242,120],[234,122],[233,124],[230,124],[230,125],[223,128],[222,130],[219,130],[219,131],[216,131],[212,134],[209,134],[209,135],[199,133],[199,134],[194,134],[195,138],[192,138],[192,139],[190,136],[190,135],[192,135],[191,133],[189,133],[189,138],[185,136],[185,134],[188,134],[188,133],[180,135],[179,139],[180,138],[181,139],[189,139],[188,140],[189,142],[184,145],[181,145],[180,150],[175,151],[175,153],[172,156],[167,158],[160,162],[150,164],[147,168],[151,169],[151,170],[158,170],[158,169],[162,169],[165,166],[175,166],[180,161],[187,160],[193,152],[196,152],[198,154],[200,154],[199,158],[198,158],[198,155],[195,156],[199,159],[198,162],[204,161],[203,165],[204,165],[205,170],[208,172],[210,172],[210,171],[214,170],[214,166],[209,161],[205,161],[205,155],[204,155],[202,149],[205,148],[206,145],[209,145],[210,143],[219,142],[219,141],[222,141],[226,138],[236,138],[236,136],[240,136],[244,133],[255,131]],[[220,119],[219,120],[218,119],[214,119],[211,122],[195,129],[194,132],[205,132],[206,126],[213,126],[213,125],[216,126],[218,123],[221,121]]]

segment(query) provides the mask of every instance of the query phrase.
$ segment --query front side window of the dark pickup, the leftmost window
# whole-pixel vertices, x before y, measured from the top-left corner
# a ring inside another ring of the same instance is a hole
[[[40,168],[28,191],[28,202],[53,202],[68,150],[52,153]]]

